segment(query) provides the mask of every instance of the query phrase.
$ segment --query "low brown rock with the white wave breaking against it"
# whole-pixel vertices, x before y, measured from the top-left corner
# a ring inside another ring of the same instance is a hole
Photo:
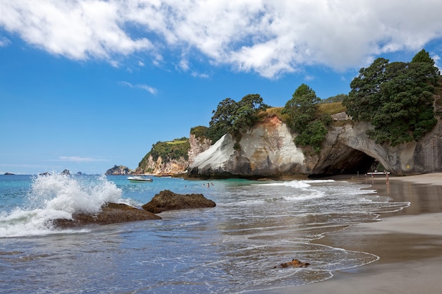
[[[153,213],[143,209],[130,207],[126,204],[107,203],[98,214],[73,214],[73,219],[56,219],[52,221],[60,228],[72,228],[90,224],[106,225],[109,223],[124,223],[128,221],[145,221],[150,219],[161,219]]]

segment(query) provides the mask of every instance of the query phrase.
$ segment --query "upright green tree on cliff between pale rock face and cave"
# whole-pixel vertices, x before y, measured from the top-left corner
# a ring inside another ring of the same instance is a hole
[[[327,134],[326,125],[330,122],[328,116],[318,114],[320,101],[311,87],[302,84],[281,111],[290,130],[298,133],[294,141],[296,145],[309,145],[315,152],[321,150],[321,144]]]

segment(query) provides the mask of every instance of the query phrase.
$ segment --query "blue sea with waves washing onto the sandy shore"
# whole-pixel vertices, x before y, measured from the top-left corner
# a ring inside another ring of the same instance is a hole
[[[362,267],[370,252],[314,243],[409,202],[339,180],[184,180],[125,176],[0,176],[0,293],[258,293]],[[141,207],[162,190],[217,206],[162,220],[61,230],[52,219],[104,202]],[[306,268],[281,268],[299,259]]]

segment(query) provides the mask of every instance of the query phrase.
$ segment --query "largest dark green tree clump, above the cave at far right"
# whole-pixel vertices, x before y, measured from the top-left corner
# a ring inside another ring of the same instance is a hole
[[[419,140],[436,125],[433,104],[439,75],[425,50],[410,63],[376,59],[352,80],[342,103],[354,120],[374,125],[367,134],[378,144]]]

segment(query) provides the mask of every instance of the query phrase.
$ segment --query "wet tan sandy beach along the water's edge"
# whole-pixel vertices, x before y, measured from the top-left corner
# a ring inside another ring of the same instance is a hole
[[[378,195],[410,202],[400,212],[380,214],[373,223],[330,233],[317,243],[370,252],[379,260],[336,271],[333,278],[266,293],[442,293],[442,173],[352,178]],[[314,261],[309,261],[314,267]]]

